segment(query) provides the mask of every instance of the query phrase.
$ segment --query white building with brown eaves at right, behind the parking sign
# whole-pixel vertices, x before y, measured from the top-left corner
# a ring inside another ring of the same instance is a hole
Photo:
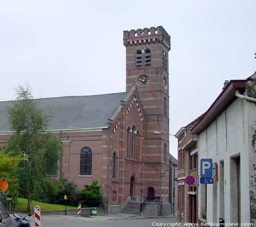
[[[256,224],[255,78],[256,73],[230,81],[192,130],[198,135],[199,169],[204,158],[217,164],[213,184],[199,185],[198,216],[203,222],[224,218],[225,223]]]

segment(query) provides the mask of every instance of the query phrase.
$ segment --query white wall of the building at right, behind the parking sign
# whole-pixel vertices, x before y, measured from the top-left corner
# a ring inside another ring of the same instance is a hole
[[[252,134],[251,131],[253,130],[249,131],[252,124],[256,129],[255,111],[255,104],[237,98],[199,135],[199,169],[202,158],[211,158],[213,163],[218,164],[218,167],[224,162],[224,179],[219,178],[219,181],[214,181],[214,185],[207,185],[207,222],[218,222],[219,218],[225,218],[225,222],[237,222],[237,187],[234,185],[237,179],[237,164],[233,158],[239,156],[241,166],[241,222],[250,221],[248,143],[252,135],[248,135],[248,132]],[[251,150],[250,154],[253,156]],[[253,157],[251,162],[256,163],[255,153]],[[199,186],[199,217],[201,212],[205,211],[204,187],[204,185]],[[221,190],[222,187],[224,187],[224,195]]]

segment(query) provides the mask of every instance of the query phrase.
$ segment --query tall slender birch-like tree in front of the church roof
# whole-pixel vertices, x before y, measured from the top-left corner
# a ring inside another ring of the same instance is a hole
[[[47,178],[47,174],[57,171],[57,160],[62,146],[60,139],[47,131],[52,114],[45,114],[33,99],[27,85],[16,88],[16,101],[7,107],[10,128],[13,132],[8,139],[8,149],[15,155],[24,156],[20,162],[19,186],[28,198],[27,211],[30,211],[31,196],[36,185]]]

